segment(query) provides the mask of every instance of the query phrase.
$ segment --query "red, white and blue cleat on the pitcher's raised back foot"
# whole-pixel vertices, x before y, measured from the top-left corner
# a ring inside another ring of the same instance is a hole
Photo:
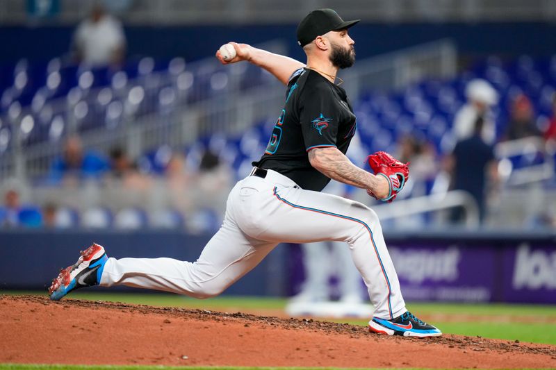
[[[58,301],[72,290],[99,284],[104,264],[108,260],[104,248],[93,243],[79,253],[79,260],[72,266],[60,270],[58,277],[52,280],[48,289],[51,300]]]

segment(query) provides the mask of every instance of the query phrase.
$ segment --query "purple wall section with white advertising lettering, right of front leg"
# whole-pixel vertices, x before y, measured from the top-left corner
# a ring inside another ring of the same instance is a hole
[[[556,235],[391,238],[408,301],[556,303]]]

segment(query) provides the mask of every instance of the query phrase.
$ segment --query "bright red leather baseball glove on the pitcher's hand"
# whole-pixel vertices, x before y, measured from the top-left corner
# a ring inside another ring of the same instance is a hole
[[[409,163],[402,163],[385,151],[377,151],[369,155],[367,161],[369,162],[370,168],[375,172],[375,175],[384,176],[386,180],[388,180],[390,192],[386,198],[379,200],[385,202],[393,201],[409,178],[409,167],[407,167]],[[367,193],[375,199],[378,199],[370,190],[367,190]]]

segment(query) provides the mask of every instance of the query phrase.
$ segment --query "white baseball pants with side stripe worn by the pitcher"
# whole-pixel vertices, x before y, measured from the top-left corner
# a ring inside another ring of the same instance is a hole
[[[100,285],[208,298],[247,274],[277,244],[324,240],[347,242],[375,306],[375,317],[392,319],[406,311],[376,213],[340,196],[302,190],[272,170],[265,178],[248,176],[231,190],[224,222],[196,262],[110,258]]]

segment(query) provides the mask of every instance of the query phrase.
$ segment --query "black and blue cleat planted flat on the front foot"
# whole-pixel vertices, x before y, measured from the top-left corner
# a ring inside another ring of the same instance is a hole
[[[406,311],[391,320],[373,317],[369,321],[371,333],[386,335],[402,335],[404,337],[440,337],[442,332],[434,326],[417,319],[411,312]]]

